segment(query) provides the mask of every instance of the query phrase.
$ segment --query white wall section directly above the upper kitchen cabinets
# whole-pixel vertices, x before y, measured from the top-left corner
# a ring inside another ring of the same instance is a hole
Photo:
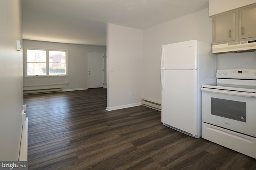
[[[209,16],[256,3],[256,0],[209,0]]]

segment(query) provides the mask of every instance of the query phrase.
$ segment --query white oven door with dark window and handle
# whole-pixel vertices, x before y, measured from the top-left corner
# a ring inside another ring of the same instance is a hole
[[[256,94],[201,88],[202,121],[256,137]]]

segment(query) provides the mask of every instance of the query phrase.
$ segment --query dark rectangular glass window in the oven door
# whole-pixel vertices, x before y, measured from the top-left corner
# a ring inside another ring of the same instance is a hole
[[[233,100],[211,98],[211,114],[246,122],[246,103]]]

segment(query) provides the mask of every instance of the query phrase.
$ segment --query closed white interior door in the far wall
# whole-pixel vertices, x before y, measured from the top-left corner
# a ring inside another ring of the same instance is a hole
[[[87,53],[88,88],[103,87],[104,53]]]

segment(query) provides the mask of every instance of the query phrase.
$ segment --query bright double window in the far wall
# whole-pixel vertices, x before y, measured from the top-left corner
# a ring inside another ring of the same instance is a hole
[[[66,51],[27,49],[26,76],[67,75]]]

